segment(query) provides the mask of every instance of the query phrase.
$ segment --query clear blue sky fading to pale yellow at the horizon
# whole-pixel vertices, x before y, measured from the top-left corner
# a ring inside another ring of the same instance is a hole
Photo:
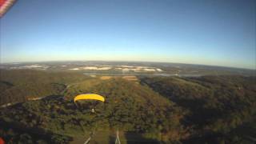
[[[256,69],[255,0],[20,0],[1,62],[122,60]]]

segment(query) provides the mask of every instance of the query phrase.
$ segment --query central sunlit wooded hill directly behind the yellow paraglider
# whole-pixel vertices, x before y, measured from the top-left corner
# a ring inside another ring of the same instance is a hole
[[[86,93],[101,94],[106,102],[86,101],[76,106],[74,96]],[[62,94],[2,108],[2,123],[10,127],[12,123],[17,127],[26,126],[28,130],[36,127],[47,133],[63,134],[64,138],[82,136],[92,130],[138,133],[159,142],[178,142],[187,136],[186,128],[180,123],[184,112],[173,102],[138,82],[122,78],[79,79],[70,82]],[[95,114],[91,113],[92,108]],[[49,138],[46,141],[52,142]]]

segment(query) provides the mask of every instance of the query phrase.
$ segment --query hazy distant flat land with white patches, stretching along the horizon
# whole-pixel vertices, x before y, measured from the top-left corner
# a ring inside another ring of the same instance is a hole
[[[235,74],[256,76],[256,70],[166,62],[23,62],[0,64],[3,70],[79,71],[85,74],[137,74],[161,76],[202,76]]]

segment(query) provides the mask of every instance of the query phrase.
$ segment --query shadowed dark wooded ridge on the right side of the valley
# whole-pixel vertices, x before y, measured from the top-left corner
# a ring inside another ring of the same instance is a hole
[[[191,135],[226,138],[244,122],[255,122],[255,77],[142,78],[142,84],[190,111],[184,124],[193,128]]]

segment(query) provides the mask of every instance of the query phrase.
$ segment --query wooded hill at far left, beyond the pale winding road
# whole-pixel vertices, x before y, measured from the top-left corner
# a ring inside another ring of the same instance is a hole
[[[85,79],[82,74],[67,72],[0,70],[0,106],[62,94],[70,82]]]

